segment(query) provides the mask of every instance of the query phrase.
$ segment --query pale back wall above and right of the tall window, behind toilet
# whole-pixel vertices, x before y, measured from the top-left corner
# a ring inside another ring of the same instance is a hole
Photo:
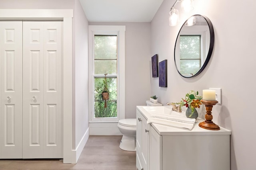
[[[126,25],[125,31],[125,118],[136,118],[136,106],[150,98],[150,23],[94,23]],[[151,58],[150,58],[151,59]]]

